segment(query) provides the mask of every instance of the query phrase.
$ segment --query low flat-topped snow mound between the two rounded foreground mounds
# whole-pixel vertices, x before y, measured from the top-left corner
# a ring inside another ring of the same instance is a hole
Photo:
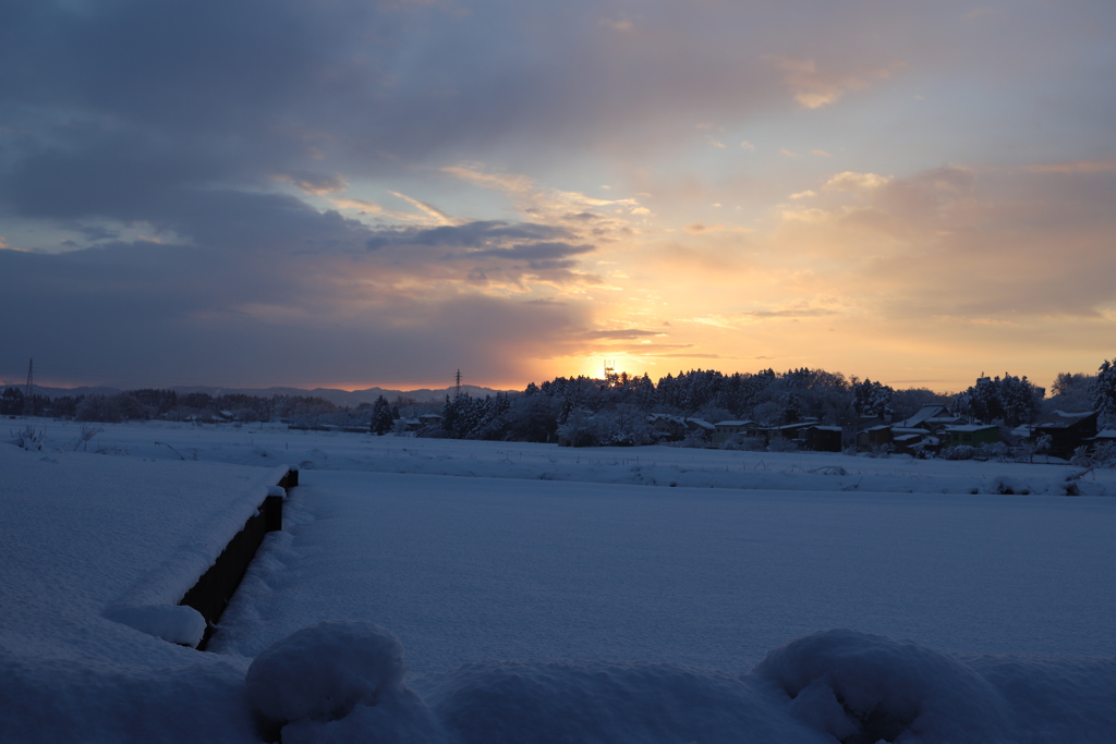
[[[479,661],[445,674],[426,699],[464,744],[829,741],[749,683],[677,664]]]

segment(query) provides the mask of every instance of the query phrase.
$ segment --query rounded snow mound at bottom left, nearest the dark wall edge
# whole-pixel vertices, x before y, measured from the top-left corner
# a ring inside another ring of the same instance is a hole
[[[244,679],[249,705],[273,741],[437,741],[433,717],[403,684],[403,646],[371,622],[302,628],[266,648]]]

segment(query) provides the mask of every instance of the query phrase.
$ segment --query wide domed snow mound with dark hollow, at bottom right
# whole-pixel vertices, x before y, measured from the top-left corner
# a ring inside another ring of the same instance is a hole
[[[844,744],[1018,741],[1000,693],[954,657],[855,630],[805,636],[753,674],[790,696],[790,711]]]

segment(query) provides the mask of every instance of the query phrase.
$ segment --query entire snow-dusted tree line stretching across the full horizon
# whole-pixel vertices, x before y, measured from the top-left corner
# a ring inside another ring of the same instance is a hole
[[[927,388],[895,389],[870,379],[846,378],[840,373],[806,367],[775,371],[722,374],[693,369],[667,374],[657,383],[648,375],[555,377],[529,384],[522,393],[494,396],[446,396],[442,404],[423,404],[381,396],[356,408],[341,407],[314,396],[276,395],[270,398],[205,393],[179,394],[138,389],[112,396],[85,395],[25,399],[18,387],[0,394],[0,414],[54,415],[88,422],[163,418],[173,421],[234,419],[279,422],[291,425],[331,425],[386,434],[419,429],[420,435],[468,439],[555,442],[573,437],[593,444],[645,444],[654,432],[650,414],[703,419],[752,421],[779,426],[801,421],[828,425],[855,424],[863,417],[885,423],[912,416],[924,405],[943,405],[972,422],[1000,422],[1007,426],[1033,423],[1055,408],[1097,409],[1116,423],[1116,359],[1104,361],[1096,375],[1062,373],[1054,380],[1051,397],[1026,376],[981,374],[959,394]],[[421,413],[441,415],[439,424],[417,427]]]

